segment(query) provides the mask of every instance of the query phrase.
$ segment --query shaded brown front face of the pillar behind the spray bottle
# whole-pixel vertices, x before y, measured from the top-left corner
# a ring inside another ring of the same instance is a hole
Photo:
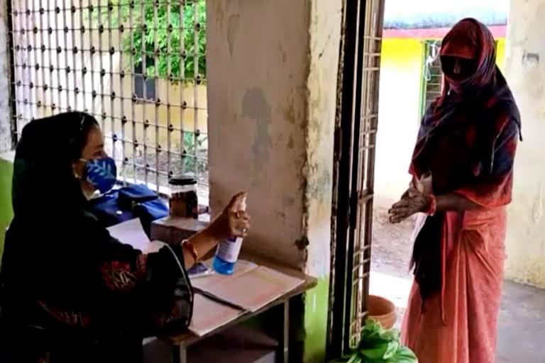
[[[309,4],[211,1],[207,11],[212,213],[248,190],[243,248],[304,269]]]

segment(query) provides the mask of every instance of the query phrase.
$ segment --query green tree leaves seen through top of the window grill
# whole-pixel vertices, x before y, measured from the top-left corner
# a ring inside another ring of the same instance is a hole
[[[127,29],[123,32],[122,50],[132,52],[135,66],[145,58],[148,76],[172,82],[206,78],[204,0],[101,0],[91,18],[95,25],[123,25]]]

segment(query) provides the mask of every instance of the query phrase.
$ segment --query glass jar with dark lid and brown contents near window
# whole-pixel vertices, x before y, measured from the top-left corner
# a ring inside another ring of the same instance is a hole
[[[170,216],[199,218],[197,179],[189,176],[172,177],[168,180]]]

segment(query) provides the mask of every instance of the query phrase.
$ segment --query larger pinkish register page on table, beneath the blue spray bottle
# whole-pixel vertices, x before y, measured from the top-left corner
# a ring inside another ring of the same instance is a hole
[[[202,280],[210,279],[210,277]],[[201,281],[199,281],[200,284]],[[236,306],[254,312],[292,291],[304,282],[265,266],[258,266],[236,277],[225,277],[214,284],[196,286]]]

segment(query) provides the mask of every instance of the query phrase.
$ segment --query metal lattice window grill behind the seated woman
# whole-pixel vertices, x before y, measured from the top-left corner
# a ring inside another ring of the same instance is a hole
[[[160,191],[191,173],[206,194],[205,0],[10,5],[13,140],[34,118],[85,111],[121,180]]]

